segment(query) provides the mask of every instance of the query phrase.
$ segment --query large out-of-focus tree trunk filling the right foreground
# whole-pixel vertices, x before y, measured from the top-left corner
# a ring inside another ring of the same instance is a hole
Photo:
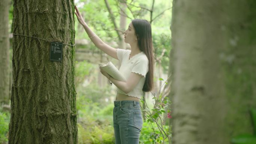
[[[173,1],[173,144],[228,144],[252,133],[255,10],[253,0]]]

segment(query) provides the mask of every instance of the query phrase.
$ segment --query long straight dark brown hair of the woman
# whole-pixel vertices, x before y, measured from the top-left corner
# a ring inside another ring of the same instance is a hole
[[[138,39],[138,46],[141,51],[143,51],[147,59],[149,60],[149,71],[146,74],[146,80],[143,86],[142,91],[149,92],[153,89],[153,77],[154,77],[154,68],[153,68],[153,43],[152,43],[152,32],[151,25],[145,19],[134,19],[132,20],[132,25],[135,30],[135,34]]]

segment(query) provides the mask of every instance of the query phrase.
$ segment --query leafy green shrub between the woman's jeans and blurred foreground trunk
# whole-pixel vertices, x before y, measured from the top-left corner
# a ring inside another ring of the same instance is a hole
[[[159,78],[159,80],[164,81],[162,78]],[[167,82],[164,83],[164,85],[166,84]],[[171,110],[169,109],[171,102],[169,101],[168,97],[163,96],[162,94],[163,92],[159,91],[158,94],[153,96],[152,99],[154,101],[154,107],[151,110],[149,110],[149,107],[145,103],[146,109],[142,111],[146,113],[145,116],[147,120],[145,122],[146,124],[144,124],[144,127],[148,130],[145,131],[146,134],[142,132],[141,143],[171,143],[171,126],[168,125],[168,119],[171,119]],[[144,103],[142,100],[141,102]]]

